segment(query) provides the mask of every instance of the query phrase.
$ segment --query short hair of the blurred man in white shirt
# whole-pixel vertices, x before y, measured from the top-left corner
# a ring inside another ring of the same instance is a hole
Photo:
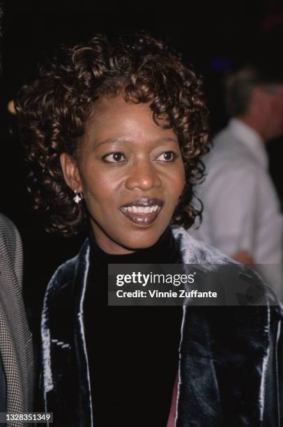
[[[245,66],[231,73],[225,84],[227,113],[230,117],[245,114],[254,88],[262,87],[268,90],[275,88],[278,84],[283,84],[283,75],[275,74],[271,69]]]

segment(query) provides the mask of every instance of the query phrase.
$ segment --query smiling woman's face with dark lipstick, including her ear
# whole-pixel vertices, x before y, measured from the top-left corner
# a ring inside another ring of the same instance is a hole
[[[185,185],[178,140],[156,125],[148,104],[122,96],[95,103],[76,163],[61,164],[68,185],[82,192],[95,239],[107,253],[155,244]]]

